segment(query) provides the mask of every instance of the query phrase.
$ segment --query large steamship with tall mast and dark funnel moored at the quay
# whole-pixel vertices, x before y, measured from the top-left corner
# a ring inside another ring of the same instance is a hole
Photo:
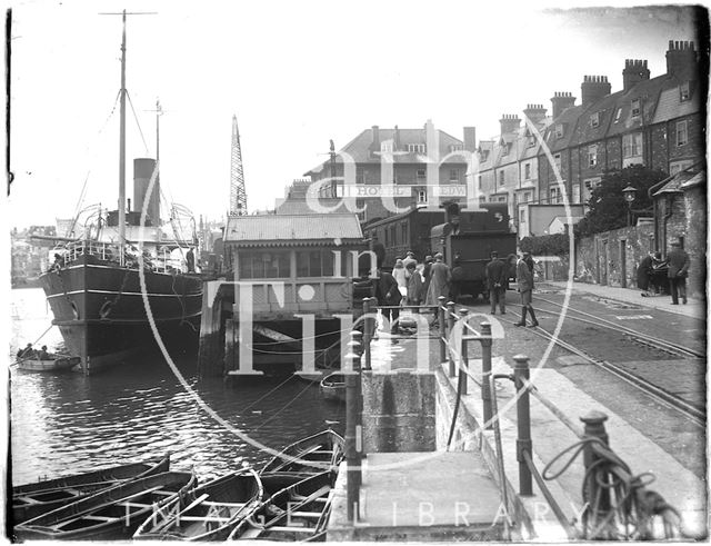
[[[52,268],[40,277],[52,324],[84,373],[124,361],[137,349],[194,338],[200,324],[202,279],[182,272],[174,259],[181,240],[160,226],[158,161],[134,160],[133,206],[126,206],[126,11],[121,47],[119,208],[74,219],[80,237],[57,247]],[[158,156],[158,151],[157,151]],[[83,224],[82,224],[83,222]]]

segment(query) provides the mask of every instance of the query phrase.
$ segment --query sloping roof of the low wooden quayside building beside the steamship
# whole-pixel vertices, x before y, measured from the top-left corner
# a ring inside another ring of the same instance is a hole
[[[293,242],[321,240],[336,242],[362,239],[356,215],[264,215],[228,218],[224,242]]]

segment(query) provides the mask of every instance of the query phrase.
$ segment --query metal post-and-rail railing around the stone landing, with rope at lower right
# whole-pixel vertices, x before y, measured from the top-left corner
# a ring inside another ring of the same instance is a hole
[[[347,431],[346,457],[348,465],[348,518],[354,522],[358,518],[360,495],[362,446],[360,441],[362,427],[362,394],[359,374],[362,369],[372,369],[371,343],[375,331],[375,312],[378,309],[392,308],[394,306],[377,306],[374,298],[363,299],[363,331],[351,334],[350,349],[347,359],[350,363],[351,374],[347,375]],[[533,496],[533,480],[549,504],[557,520],[564,529],[569,539],[659,539],[679,538],[681,532],[681,517],[678,510],[669,505],[657,492],[649,490],[651,483],[649,474],[633,475],[629,466],[620,459],[609,447],[604,428],[607,416],[599,411],[592,411],[581,417],[584,428],[570,419],[545,398],[535,386],[530,383],[529,357],[515,355],[513,357],[513,373],[510,375],[492,374],[492,331],[491,324],[484,321],[480,330],[469,325],[469,312],[460,309],[457,312],[452,301],[445,302],[444,297],[439,298],[438,306],[403,306],[402,309],[434,310],[439,325],[439,335],[432,336],[440,343],[440,361],[448,363],[450,378],[458,377],[455,407],[452,415],[452,424],[447,446],[449,448],[460,399],[465,396],[468,379],[472,379],[481,389],[482,414],[484,430],[493,428],[497,439],[499,458],[499,474],[502,487],[505,488],[505,475],[501,448],[501,435],[499,430],[498,404],[495,400],[495,381],[498,379],[511,380],[517,391],[517,461],[519,470],[519,495]],[[461,338],[455,334],[461,332]],[[362,341],[361,341],[362,340]],[[477,378],[469,370],[469,345],[478,341],[481,345],[482,373]],[[459,345],[458,345],[459,344]],[[458,350],[459,349],[459,350]],[[459,374],[457,370],[459,369]],[[542,471],[533,461],[533,438],[531,436],[530,396],[537,398],[543,407],[554,415],[563,425],[575,434],[580,441],[568,447],[554,457]],[[572,451],[570,459],[562,469],[551,474],[551,467],[565,454]],[[585,468],[583,479],[583,503],[579,527],[565,516],[559,503],[554,498],[547,480],[555,479],[579,454],[583,454]],[[505,499],[505,492],[503,498]],[[659,525],[655,525],[659,520]]]

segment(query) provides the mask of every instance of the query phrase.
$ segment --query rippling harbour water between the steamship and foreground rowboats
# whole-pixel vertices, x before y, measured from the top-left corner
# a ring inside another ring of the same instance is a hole
[[[10,355],[51,321],[41,289],[11,290]],[[38,347],[62,348],[51,328]],[[344,407],[324,401],[318,386],[296,377],[227,385],[197,380],[194,356],[174,356],[186,388],[162,355],[84,377],[37,374],[10,366],[12,483],[88,471],[171,454],[171,468],[209,478],[329,426],[344,429]],[[199,399],[198,399],[199,397]],[[204,406],[203,406],[204,404]],[[220,423],[220,420],[222,423]]]

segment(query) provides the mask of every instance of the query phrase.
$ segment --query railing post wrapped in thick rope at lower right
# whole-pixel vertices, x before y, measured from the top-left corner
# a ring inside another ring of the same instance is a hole
[[[608,420],[608,416],[605,414],[593,409],[588,413],[588,415],[581,417],[580,420],[585,425],[583,431],[585,438],[598,438],[605,446],[610,445],[610,438],[608,437],[608,433],[604,428],[604,421]],[[593,445],[590,443],[585,444],[585,450],[583,451],[583,464],[585,465],[585,470],[597,466],[598,460],[599,457],[594,453]],[[595,536],[588,536],[588,530],[590,526],[598,528],[599,523],[604,522],[610,512],[610,487],[608,487],[609,476],[604,476],[602,484],[599,482],[599,475],[597,471],[585,471],[585,476],[587,479],[583,484],[583,502],[591,503],[591,505],[588,506],[588,509],[585,510],[588,517],[583,519],[583,538],[603,538],[607,536],[607,528],[600,528],[599,530],[602,532],[602,534],[595,534]],[[594,503],[594,505],[592,505],[592,503]]]

